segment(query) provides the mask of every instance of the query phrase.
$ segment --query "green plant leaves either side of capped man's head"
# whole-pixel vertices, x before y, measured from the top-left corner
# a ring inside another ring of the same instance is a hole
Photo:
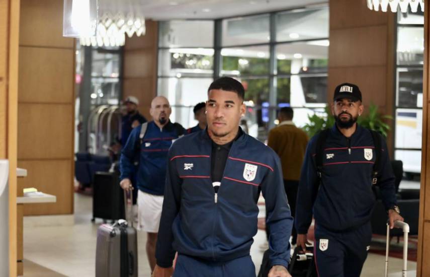
[[[316,114],[309,115],[309,123],[304,125],[302,129],[309,135],[309,137],[314,136],[317,132],[323,129],[331,128],[335,121],[334,117],[331,115],[331,110],[329,105],[325,108],[326,115],[319,116]],[[392,120],[393,118],[389,115],[381,115],[378,112],[378,106],[375,104],[370,104],[368,112],[363,116],[360,116],[357,123],[365,128],[378,131],[384,137],[387,137],[390,126],[384,122],[384,120]]]

